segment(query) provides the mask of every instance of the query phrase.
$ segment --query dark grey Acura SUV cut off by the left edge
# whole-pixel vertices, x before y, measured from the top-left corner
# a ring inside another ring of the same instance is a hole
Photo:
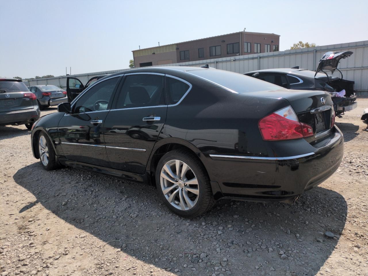
[[[36,96],[21,80],[0,78],[0,126],[24,124],[31,129],[39,117]]]

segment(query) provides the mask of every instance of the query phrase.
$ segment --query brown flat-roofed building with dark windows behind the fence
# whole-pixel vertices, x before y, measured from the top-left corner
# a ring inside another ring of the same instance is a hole
[[[215,59],[279,50],[274,33],[237,32],[181,43],[134,50],[135,67]]]

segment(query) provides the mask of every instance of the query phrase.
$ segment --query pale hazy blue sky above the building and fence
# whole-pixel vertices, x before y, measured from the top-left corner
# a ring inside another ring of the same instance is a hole
[[[0,0],[0,76],[128,68],[132,50],[243,31],[329,45],[368,39],[368,1]]]

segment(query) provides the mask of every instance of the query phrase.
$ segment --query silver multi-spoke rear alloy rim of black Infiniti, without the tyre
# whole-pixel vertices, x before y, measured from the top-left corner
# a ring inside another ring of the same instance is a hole
[[[160,174],[164,197],[176,209],[187,211],[197,204],[199,184],[188,164],[181,160],[170,160],[164,164]]]

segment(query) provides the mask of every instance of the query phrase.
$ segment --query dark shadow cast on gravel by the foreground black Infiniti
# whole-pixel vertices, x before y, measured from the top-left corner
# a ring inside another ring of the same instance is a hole
[[[54,215],[177,275],[315,275],[347,216],[342,195],[321,187],[294,205],[220,200],[189,220],[169,212],[155,188],[141,183],[71,168],[45,171],[39,163],[13,177]],[[27,215],[33,205],[25,202],[19,212]]]

